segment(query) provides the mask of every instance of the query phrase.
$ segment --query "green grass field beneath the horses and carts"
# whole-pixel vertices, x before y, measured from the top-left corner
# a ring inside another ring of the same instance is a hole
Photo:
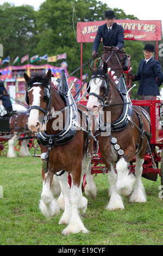
[[[83,216],[90,233],[62,236],[64,226],[58,224],[62,211],[47,220],[39,210],[41,159],[1,157],[0,172],[0,245],[163,245],[160,177],[156,182],[142,178],[146,203],[129,203],[125,198],[125,210],[107,211],[108,177],[98,174],[97,198],[88,200]]]

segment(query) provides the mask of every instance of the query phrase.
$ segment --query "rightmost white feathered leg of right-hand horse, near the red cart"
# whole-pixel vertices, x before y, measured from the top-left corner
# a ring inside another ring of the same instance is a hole
[[[141,181],[142,175],[142,164],[144,160],[140,159],[139,156],[136,156],[136,166],[135,166],[135,188],[133,194],[131,194],[130,202],[144,203],[147,201],[145,188],[143,187]]]

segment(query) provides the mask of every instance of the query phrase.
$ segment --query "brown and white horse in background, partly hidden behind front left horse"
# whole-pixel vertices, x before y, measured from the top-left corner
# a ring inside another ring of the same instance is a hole
[[[11,130],[11,139],[8,141],[9,149],[7,153],[7,157],[17,157],[14,145],[16,141],[21,138],[21,135],[24,134],[25,137],[35,136],[34,133],[29,131],[27,127],[29,114],[20,113],[13,115],[10,119],[10,130]],[[22,139],[21,147],[19,151],[19,156],[30,156],[28,150],[28,139]]]

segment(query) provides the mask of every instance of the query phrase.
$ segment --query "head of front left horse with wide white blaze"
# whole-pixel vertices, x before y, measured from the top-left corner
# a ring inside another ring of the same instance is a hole
[[[49,69],[46,76],[35,75],[29,77],[24,73],[26,80],[26,102],[29,105],[28,128],[33,132],[45,130],[46,118],[51,107],[51,75]]]

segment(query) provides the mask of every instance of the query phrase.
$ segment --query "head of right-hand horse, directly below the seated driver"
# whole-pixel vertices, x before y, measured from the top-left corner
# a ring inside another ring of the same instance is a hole
[[[105,102],[109,91],[108,65],[104,62],[103,68],[94,70],[90,68],[92,75],[89,82],[89,101],[86,107],[93,111],[99,111],[101,102]]]

